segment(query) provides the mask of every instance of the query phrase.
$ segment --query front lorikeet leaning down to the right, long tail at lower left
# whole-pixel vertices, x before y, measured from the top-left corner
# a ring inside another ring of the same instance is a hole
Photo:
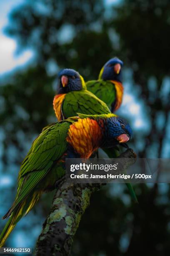
[[[45,127],[21,164],[15,201],[3,217],[10,219],[0,235],[0,246],[41,194],[54,189],[65,175],[66,157],[87,159],[97,148],[123,143],[131,135],[130,126],[114,114],[80,114]]]

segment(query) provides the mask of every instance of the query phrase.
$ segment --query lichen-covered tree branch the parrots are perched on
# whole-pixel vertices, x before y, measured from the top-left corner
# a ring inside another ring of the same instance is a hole
[[[136,154],[131,148],[122,153],[124,166],[134,163]],[[123,170],[122,170],[123,171]],[[42,227],[37,240],[35,256],[68,256],[70,255],[73,236],[80,219],[90,203],[90,196],[103,184],[67,184],[61,182],[55,193],[50,214]]]

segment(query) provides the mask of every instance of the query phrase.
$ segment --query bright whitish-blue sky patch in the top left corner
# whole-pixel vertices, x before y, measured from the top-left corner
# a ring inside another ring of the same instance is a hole
[[[3,31],[8,23],[10,10],[23,2],[24,0],[0,0],[0,75],[26,63],[33,56],[29,49],[16,55],[15,40],[7,37]]]

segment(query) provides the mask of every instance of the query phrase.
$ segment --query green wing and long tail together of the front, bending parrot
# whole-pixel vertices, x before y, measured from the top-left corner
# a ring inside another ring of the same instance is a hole
[[[57,166],[57,160],[67,150],[66,137],[69,127],[68,121],[49,125],[32,143],[20,168],[15,201],[4,216],[4,218],[10,216],[10,219],[0,235],[0,246],[3,245],[20,218],[32,209],[50,183],[54,183],[61,174],[64,175],[63,170],[60,170],[60,165]]]

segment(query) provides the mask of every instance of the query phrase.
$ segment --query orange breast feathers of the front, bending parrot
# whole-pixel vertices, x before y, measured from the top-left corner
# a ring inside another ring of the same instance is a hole
[[[84,118],[70,125],[67,142],[81,158],[87,159],[99,147],[101,138],[102,132],[97,121]]]

